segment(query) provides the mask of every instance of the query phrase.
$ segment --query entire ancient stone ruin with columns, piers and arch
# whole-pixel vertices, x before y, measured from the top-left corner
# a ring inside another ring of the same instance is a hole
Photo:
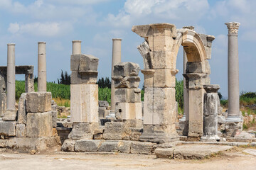
[[[33,88],[33,66],[15,66],[14,44],[9,44],[7,67],[0,67],[1,146],[29,151],[61,144],[64,152],[156,153],[158,157],[167,157],[163,152],[173,154],[169,148],[188,141],[256,141],[255,136],[235,137],[236,132],[242,131],[238,81],[240,23],[226,25],[228,113],[222,113],[220,107],[220,86],[210,84],[208,60],[215,37],[196,33],[193,27],[177,29],[170,23],[133,26],[132,31],[144,38],[137,47],[144,61],[142,69],[137,63],[121,62],[121,39],[113,39],[111,107],[107,101],[98,101],[99,59],[82,54],[81,41],[74,40],[70,56],[70,119],[66,120],[57,120],[57,106],[47,92],[46,42],[38,42],[37,92]],[[178,120],[176,57],[181,46],[184,115]],[[144,74],[143,103],[139,71]],[[18,109],[15,74],[25,74],[26,81],[26,93],[21,95]]]

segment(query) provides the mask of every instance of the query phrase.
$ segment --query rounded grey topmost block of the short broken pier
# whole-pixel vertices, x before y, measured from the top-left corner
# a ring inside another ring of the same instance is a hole
[[[134,62],[119,62],[114,65],[114,77],[137,77],[139,64]]]

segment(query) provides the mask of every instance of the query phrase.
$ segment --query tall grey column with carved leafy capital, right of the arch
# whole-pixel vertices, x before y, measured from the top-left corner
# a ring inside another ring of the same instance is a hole
[[[228,118],[241,122],[239,104],[238,28],[240,23],[225,23],[228,27]]]

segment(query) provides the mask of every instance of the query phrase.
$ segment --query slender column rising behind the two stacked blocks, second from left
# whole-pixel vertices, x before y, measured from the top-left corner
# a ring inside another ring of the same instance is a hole
[[[38,42],[38,92],[46,91],[46,42]]]

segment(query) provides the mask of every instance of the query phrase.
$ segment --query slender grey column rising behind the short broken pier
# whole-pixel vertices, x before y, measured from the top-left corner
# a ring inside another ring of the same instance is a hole
[[[114,65],[121,62],[121,41],[120,38],[113,38],[112,39],[112,67],[111,67],[111,77],[114,76]],[[114,118],[114,80],[111,80],[111,111],[110,111],[110,118]]]

